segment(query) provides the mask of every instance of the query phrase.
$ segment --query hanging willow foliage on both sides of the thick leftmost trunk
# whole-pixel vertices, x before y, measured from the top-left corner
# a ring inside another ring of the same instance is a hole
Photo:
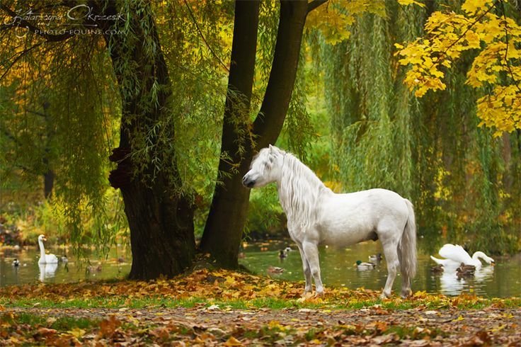
[[[100,1],[99,4],[108,3]],[[162,109],[162,117],[154,124],[148,123],[147,131],[132,134],[130,155],[136,164],[134,174],[146,171],[146,178],[154,179],[157,171],[168,171],[173,167],[172,161],[176,161],[182,178],[173,180],[181,183],[175,187],[176,193],[195,197],[193,193],[197,192],[209,198],[219,157],[228,69],[223,62],[229,62],[233,3],[207,1],[204,6],[193,6],[184,0],[154,4],[121,0],[114,4],[125,18],[113,28],[120,39],[117,43],[105,42],[103,35],[98,34],[45,42],[45,38],[25,28],[2,30],[0,35],[0,74],[6,72],[1,97],[13,101],[10,107],[1,109],[1,126],[25,140],[21,142],[23,146],[11,145],[6,156],[23,159],[18,161],[18,166],[24,167],[42,161],[40,154],[45,153],[46,148],[38,146],[38,137],[45,124],[40,116],[29,111],[42,113],[45,101],[45,112],[52,124],[46,157],[57,177],[55,205],[59,210],[56,212],[65,216],[64,234],[77,253],[82,244],[110,244],[120,229],[114,227],[115,216],[107,215],[108,206],[113,205],[118,211],[110,212],[122,214],[120,201],[108,202],[108,199],[119,200],[119,196],[108,193],[112,188],[107,177],[113,168],[107,158],[110,151],[118,147],[122,97],[128,100],[135,95],[139,108],[149,110],[156,106],[158,95],[166,88],[155,81],[150,93],[142,93],[136,73],[141,67],[132,62],[132,57],[124,57],[113,65],[110,50],[126,45],[143,47],[145,55],[154,55],[161,48],[172,82],[168,110]],[[2,1],[2,5],[28,9],[42,4],[13,0]],[[46,1],[45,6],[57,15],[67,11],[67,6],[56,1]],[[147,33],[143,36],[145,40],[140,40],[127,25],[135,8],[154,14],[161,47],[152,40],[149,21],[139,23],[139,30]],[[21,33],[22,38],[18,37]],[[18,59],[21,48],[30,50]],[[155,68],[145,67],[149,71]],[[122,76],[119,82],[117,74]],[[139,117],[141,115],[130,115],[127,121]],[[173,127],[176,127],[175,138],[170,136]],[[157,151],[159,147],[161,154]],[[174,147],[175,157],[169,154]],[[7,161],[2,156],[2,174],[13,172],[13,166],[8,166]]]

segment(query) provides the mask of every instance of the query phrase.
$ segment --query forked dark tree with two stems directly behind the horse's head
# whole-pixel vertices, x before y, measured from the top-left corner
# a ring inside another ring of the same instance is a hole
[[[241,92],[244,95],[250,95],[253,73],[249,74],[249,72],[253,69],[253,67],[251,67],[251,56],[253,55],[254,57],[255,54],[252,52],[254,42],[248,42],[248,45],[244,42],[242,42],[241,45],[236,45],[236,29],[238,25],[244,25],[244,28],[240,29],[240,33],[243,35],[242,40],[247,40],[246,36],[248,35],[245,34],[246,30],[248,30],[250,35],[253,35],[251,32],[253,32],[254,28],[253,23],[251,23],[252,20],[248,22],[244,20],[242,16],[238,16],[237,10],[240,8],[237,4],[240,2],[241,1],[236,2],[236,26],[234,28],[234,45],[231,51],[231,59],[232,62],[236,63],[237,70],[239,70],[239,65],[241,65],[242,69],[246,71],[240,72],[230,69],[229,86],[238,87],[237,84],[232,83],[232,78],[240,79],[242,81],[241,86],[244,87],[244,90],[241,90]],[[243,11],[245,11],[245,9],[243,9]],[[280,2],[280,20],[277,30],[277,43],[275,45],[273,66],[260,113],[253,124],[253,135],[256,138],[257,150],[270,143],[275,143],[280,134],[280,130],[282,130],[287,109],[290,105],[295,76],[297,74],[300,45],[307,12],[307,1]],[[253,16],[253,14],[251,14],[251,16]],[[246,51],[246,49],[248,50]],[[241,55],[244,55],[244,60],[239,59]],[[246,57],[249,57],[249,59],[246,59]],[[233,68],[234,65],[231,67]],[[235,77],[232,75],[232,72],[236,72],[239,76]],[[246,74],[246,72],[248,72],[248,74]],[[246,83],[246,78],[248,79],[248,83]],[[235,82],[235,79],[233,82]],[[239,137],[240,132],[237,132],[233,127],[227,124],[227,116],[229,117],[229,115],[225,113],[222,154],[227,152],[227,154],[231,156],[234,160],[233,163],[237,165],[237,170],[231,177],[224,179],[222,186],[217,186],[215,189],[212,209],[210,210],[205,232],[201,240],[201,249],[209,252],[212,257],[218,261],[219,265],[236,267],[238,265],[239,245],[246,223],[249,198],[249,190],[242,186],[241,179],[248,170],[254,150],[252,150],[251,147],[246,147],[247,150],[244,153],[237,153],[237,148],[234,146],[243,139]],[[247,126],[246,124],[244,125],[244,127]],[[219,169],[228,169],[229,171],[229,168],[229,164],[219,164]]]

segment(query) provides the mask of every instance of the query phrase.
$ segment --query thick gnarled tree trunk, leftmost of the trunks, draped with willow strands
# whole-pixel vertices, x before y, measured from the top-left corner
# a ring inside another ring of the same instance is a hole
[[[113,2],[108,1],[104,12],[114,15],[116,10]],[[129,13],[131,18],[128,21],[137,42],[129,44],[124,35],[105,38],[122,96],[120,147],[114,149],[110,156],[110,160],[118,163],[118,167],[110,172],[109,181],[114,188],[120,188],[125,203],[132,246],[129,276],[134,279],[151,279],[159,275],[177,275],[191,265],[195,255],[193,207],[184,195],[176,192],[181,178],[175,154],[167,149],[169,145],[166,142],[157,137],[150,139],[158,159],[164,165],[159,172],[154,173],[152,163],[134,163],[130,157],[131,153],[139,149],[132,148],[135,146],[134,137],[149,133],[157,123],[163,121],[166,124],[162,125],[160,132],[170,141],[173,141],[174,135],[173,123],[164,121],[169,116],[166,112],[171,96],[171,81],[151,8],[145,5],[134,10]],[[145,22],[147,25],[140,24]],[[149,28],[149,32],[144,33],[143,28]],[[154,41],[154,53],[144,51],[146,48],[142,42],[149,38],[147,35],[151,35]],[[132,59],[134,64],[135,74],[130,81],[125,75],[125,64],[128,64],[125,59]],[[156,102],[146,103],[151,100],[154,82],[160,86]],[[168,163],[168,167],[165,163]],[[143,164],[148,166],[144,166],[142,171],[136,171],[137,166],[143,168]]]

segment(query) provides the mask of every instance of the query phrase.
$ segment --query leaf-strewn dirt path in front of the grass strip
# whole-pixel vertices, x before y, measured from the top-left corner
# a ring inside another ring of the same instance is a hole
[[[108,317],[115,317],[122,324],[130,323],[139,329],[149,328],[153,336],[156,336],[154,331],[159,334],[158,329],[166,329],[166,334],[176,333],[176,341],[181,344],[197,342],[199,339],[199,342],[205,345],[227,346],[234,346],[234,343],[268,345],[275,342],[285,345],[401,343],[401,346],[521,346],[521,309],[389,310],[372,307],[352,310],[245,310],[203,306],[190,309],[6,307],[4,313],[8,312],[35,314],[52,319],[76,317],[107,321]],[[185,329],[182,334],[178,330],[179,326]],[[263,334],[269,335],[270,338],[266,339]],[[201,336],[205,339],[200,339]]]

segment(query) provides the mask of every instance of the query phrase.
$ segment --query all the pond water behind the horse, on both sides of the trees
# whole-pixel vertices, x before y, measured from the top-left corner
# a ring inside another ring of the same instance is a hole
[[[290,246],[287,258],[281,260],[280,249]],[[50,249],[50,253],[63,254],[59,249]],[[321,248],[321,274],[326,290],[328,286],[345,286],[346,288],[367,288],[381,290],[387,278],[387,266],[383,259],[377,268],[370,271],[357,271],[355,262],[368,261],[368,256],[383,253],[379,242],[362,242],[348,249]],[[119,254],[119,256],[118,256]],[[121,257],[121,254],[124,254]],[[271,241],[266,243],[244,243],[239,262],[254,273],[270,275],[285,280],[303,281],[302,261],[299,251],[291,241]],[[38,266],[40,254],[38,247],[13,252],[4,250],[0,254],[0,286],[20,285],[24,283],[69,283],[84,280],[101,280],[125,278],[130,272],[130,254],[120,249],[111,251],[108,258],[91,256],[91,267],[80,263],[69,256],[67,264],[57,266]],[[21,265],[12,265],[13,258],[18,258]],[[119,258],[119,260],[118,260]],[[122,259],[124,258],[124,259]],[[413,291],[425,290],[430,293],[459,295],[462,292],[476,293],[486,297],[521,296],[521,256],[495,258],[496,266],[483,266],[476,271],[474,278],[457,279],[455,273],[435,274],[430,268],[435,264],[428,254],[418,254],[418,274],[413,280]],[[268,273],[269,266],[284,269],[280,275]],[[394,282],[394,292],[399,292],[401,278]],[[302,285],[304,290],[304,285]]]

